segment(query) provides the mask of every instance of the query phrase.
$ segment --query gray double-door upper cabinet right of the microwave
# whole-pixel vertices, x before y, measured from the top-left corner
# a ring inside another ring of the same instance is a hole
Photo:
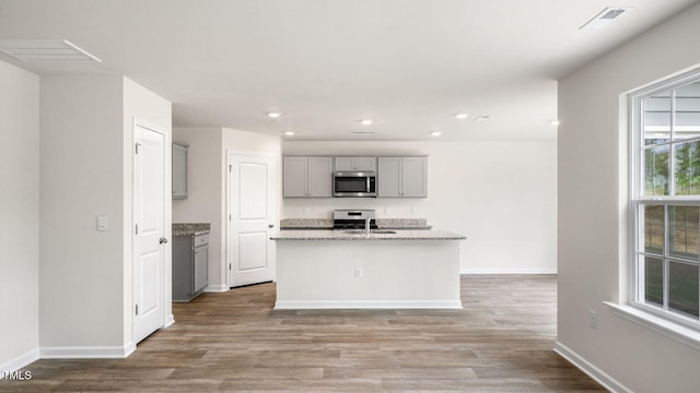
[[[428,157],[378,157],[377,166],[377,196],[428,196]]]

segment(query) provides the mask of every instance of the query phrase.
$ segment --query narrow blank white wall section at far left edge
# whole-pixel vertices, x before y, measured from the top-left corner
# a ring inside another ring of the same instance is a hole
[[[39,78],[0,61],[0,371],[38,357]]]

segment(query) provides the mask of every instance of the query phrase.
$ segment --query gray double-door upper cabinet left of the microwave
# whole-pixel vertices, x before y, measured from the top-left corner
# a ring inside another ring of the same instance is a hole
[[[331,157],[284,157],[284,196],[331,196]]]

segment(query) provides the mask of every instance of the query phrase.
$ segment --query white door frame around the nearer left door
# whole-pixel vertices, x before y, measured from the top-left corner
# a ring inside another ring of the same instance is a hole
[[[149,123],[147,121],[143,121],[141,119],[138,119],[137,117],[133,117],[133,121],[132,121],[132,126],[131,126],[131,146],[130,148],[135,148],[136,146],[136,140],[137,140],[137,128],[141,127],[144,129],[148,129],[149,131],[153,131],[156,132],[159,134],[163,135],[163,171],[165,175],[165,179],[163,180],[163,237],[165,237],[166,239],[171,238],[172,233],[168,230],[167,228],[167,224],[168,224],[168,219],[167,219],[167,198],[170,196],[170,193],[167,193],[167,169],[168,169],[168,165],[167,165],[167,146],[168,146],[168,132],[155,124]],[[135,331],[136,331],[136,318],[135,318],[135,308],[136,308],[136,260],[137,260],[137,250],[135,247],[136,243],[136,210],[135,210],[135,199],[136,199],[136,155],[133,154],[133,151],[130,152],[131,155],[131,227],[130,227],[130,233],[131,233],[131,302],[129,305],[129,315],[131,317],[131,345],[132,345],[132,350],[136,350],[136,345],[138,344],[136,342],[136,335],[135,335]],[[170,255],[171,253],[168,252],[171,249],[171,245],[166,245],[166,247],[163,249],[163,258],[161,260],[161,303],[160,303],[160,319],[161,319],[161,327],[165,327],[165,319],[166,319],[166,300],[170,301],[171,296],[167,296],[167,290],[170,290],[171,288],[171,284],[168,284],[166,282],[167,278],[167,272],[165,270],[166,267],[166,261],[170,260]],[[171,315],[172,317],[172,315]],[[174,322],[174,321],[172,321]],[[171,323],[172,323],[171,322]],[[130,350],[130,352],[132,352]]]

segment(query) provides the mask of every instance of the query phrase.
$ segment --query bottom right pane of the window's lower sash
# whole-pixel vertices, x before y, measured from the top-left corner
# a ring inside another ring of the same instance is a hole
[[[670,262],[668,308],[698,317],[698,266]]]

